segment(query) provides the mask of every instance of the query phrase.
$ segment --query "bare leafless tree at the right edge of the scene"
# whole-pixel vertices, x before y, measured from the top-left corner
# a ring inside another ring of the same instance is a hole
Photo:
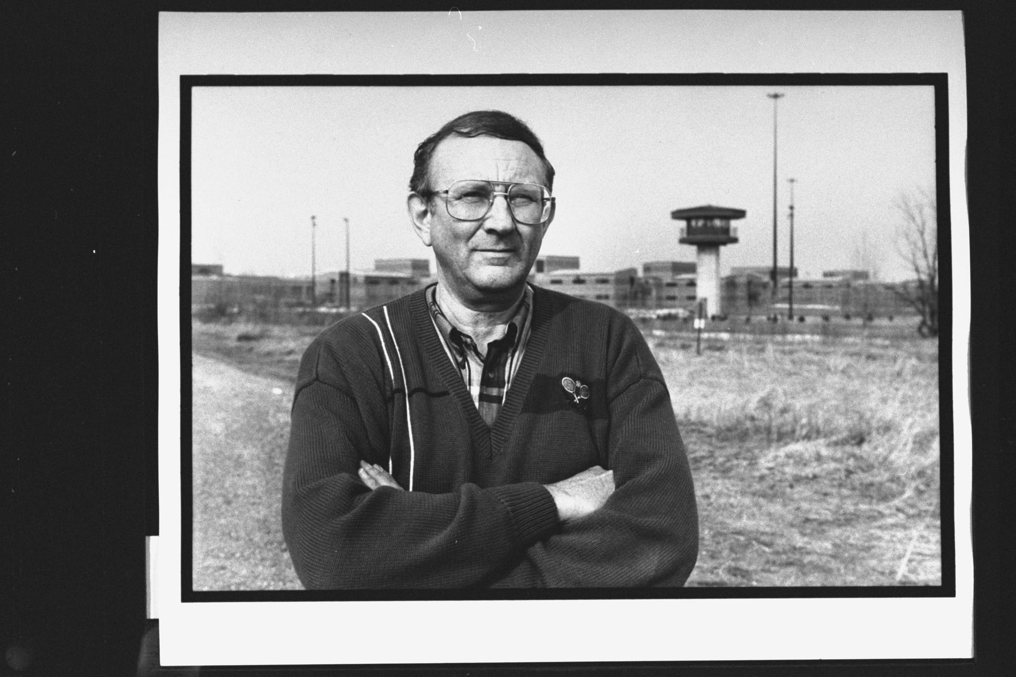
[[[896,294],[920,316],[922,336],[939,335],[939,228],[935,194],[914,189],[895,202],[902,220],[896,229],[896,251],[914,279],[894,285]]]

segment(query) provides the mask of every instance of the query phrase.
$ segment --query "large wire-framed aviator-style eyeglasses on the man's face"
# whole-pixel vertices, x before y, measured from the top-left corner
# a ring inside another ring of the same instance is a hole
[[[445,191],[434,191],[432,195],[445,196],[448,215],[460,221],[479,221],[487,216],[494,205],[494,198],[505,196],[512,216],[519,223],[536,225],[551,217],[554,198],[551,192],[538,184],[510,184],[506,191],[494,190],[489,181],[456,181]]]

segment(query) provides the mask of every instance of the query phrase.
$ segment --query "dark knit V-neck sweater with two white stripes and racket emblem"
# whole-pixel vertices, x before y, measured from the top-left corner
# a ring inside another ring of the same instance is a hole
[[[282,488],[282,531],[305,587],[684,584],[698,517],[652,353],[627,316],[534,291],[532,334],[493,427],[445,353],[423,290],[310,345]],[[577,405],[564,377],[588,385],[588,399]],[[361,459],[411,491],[372,491],[358,478]],[[614,493],[560,523],[543,485],[595,465],[614,471]]]

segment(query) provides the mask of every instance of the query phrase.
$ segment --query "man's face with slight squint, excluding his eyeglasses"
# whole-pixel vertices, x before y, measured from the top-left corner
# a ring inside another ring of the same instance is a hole
[[[467,179],[489,181],[497,191],[506,190],[499,183],[547,185],[544,163],[525,143],[452,135],[434,149],[430,187],[441,191]],[[448,291],[466,304],[517,298],[550,220],[539,225],[516,222],[504,196],[497,196],[479,221],[450,216],[444,195],[434,196],[427,207],[420,196],[410,195],[409,214],[417,233],[434,248],[438,279]]]

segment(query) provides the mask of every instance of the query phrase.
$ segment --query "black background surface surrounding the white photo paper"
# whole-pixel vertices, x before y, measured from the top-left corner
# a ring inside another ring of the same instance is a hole
[[[134,674],[148,627],[143,537],[146,523],[154,524],[154,496],[145,491],[151,486],[146,478],[153,475],[145,459],[156,444],[157,16],[140,4],[25,2],[5,3],[0,10],[0,528],[8,546],[2,549],[0,638],[5,651],[16,645],[35,655],[29,669],[18,673],[2,665],[0,674]],[[252,4],[178,2],[162,8],[230,10]],[[745,8],[743,3],[685,6]],[[1003,330],[1016,313],[1009,293],[1014,242],[1011,227],[1001,220],[1002,206],[1011,207],[1016,199],[1013,132],[1001,125],[1013,113],[1016,62],[1011,49],[1002,48],[1012,39],[1013,9],[1003,2],[888,6],[967,10],[978,658],[973,663],[894,663],[880,671],[1004,674],[1012,666],[1008,640],[1016,636],[1012,590],[1002,584],[1003,566],[1016,553],[1009,529],[1002,526],[1011,523],[1001,516],[1011,505],[1003,498],[1011,495],[1016,451],[1016,375],[1011,355],[1002,354],[1012,345]],[[801,2],[764,7],[812,8]],[[330,7],[298,2],[288,8]],[[611,668],[625,674],[675,669]],[[867,673],[872,667],[793,663],[704,669],[764,675],[859,670]],[[452,670],[492,671],[498,670]],[[572,669],[556,666],[553,671]]]

